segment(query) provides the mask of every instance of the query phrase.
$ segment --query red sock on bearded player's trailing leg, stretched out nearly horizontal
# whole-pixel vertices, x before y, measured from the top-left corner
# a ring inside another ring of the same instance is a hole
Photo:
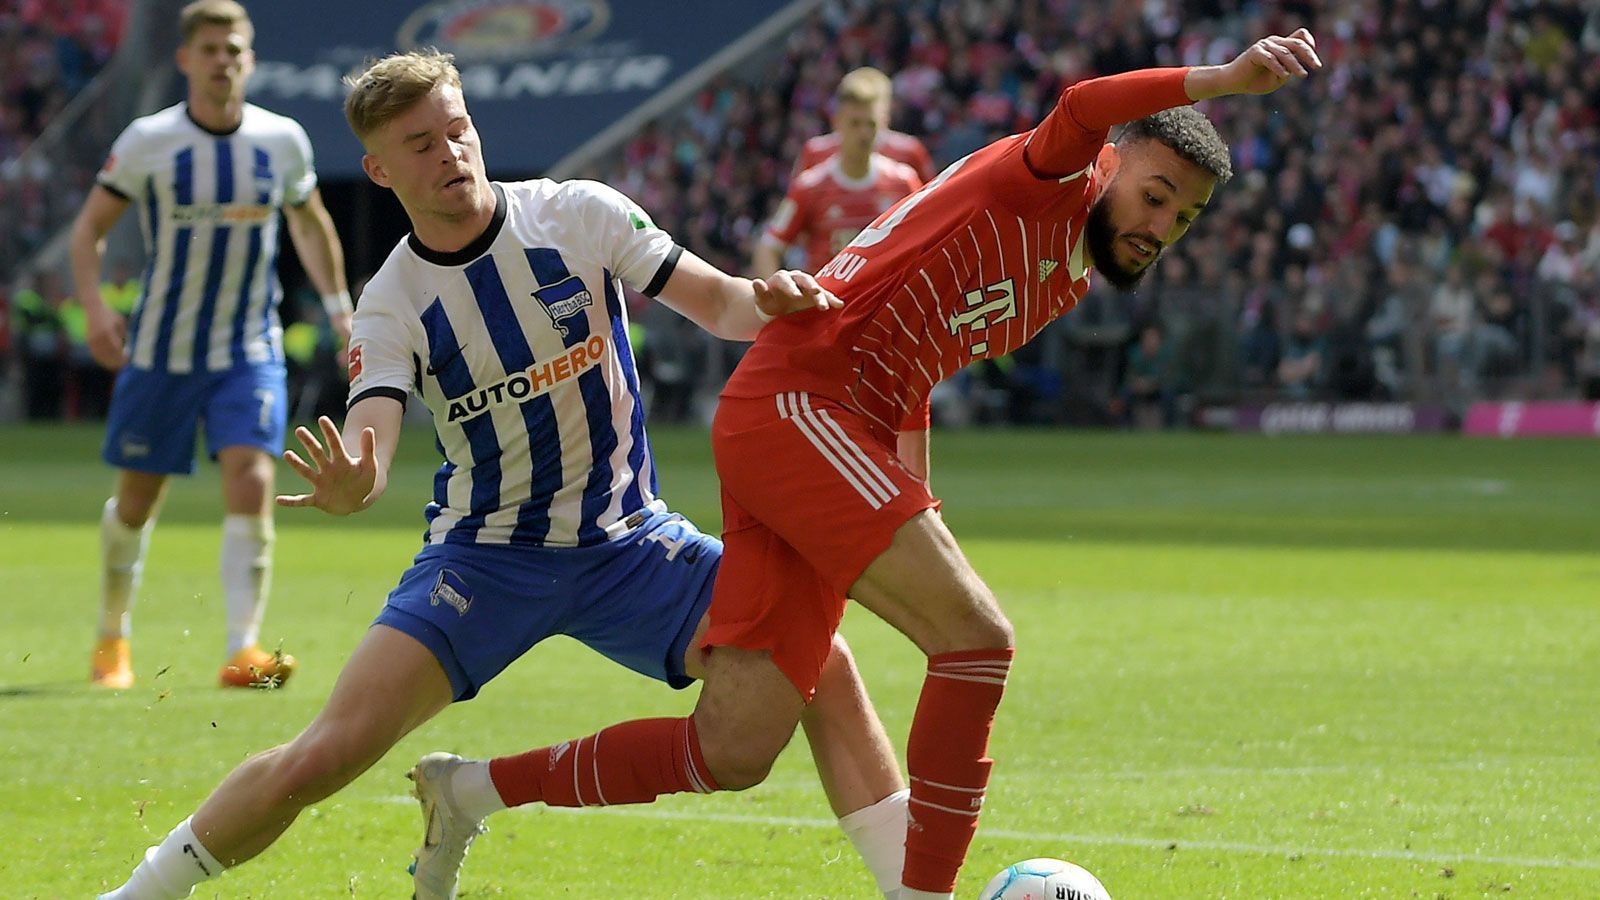
[[[717,790],[694,719],[638,719],[598,733],[490,761],[506,806],[645,804],[661,794]]]

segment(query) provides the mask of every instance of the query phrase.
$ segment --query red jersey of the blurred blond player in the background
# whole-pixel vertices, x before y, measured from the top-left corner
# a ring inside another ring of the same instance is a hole
[[[850,178],[832,157],[789,183],[778,215],[766,224],[765,240],[779,245],[805,242],[805,271],[816,272],[912,191],[922,179],[906,163],[872,154],[867,175]]]

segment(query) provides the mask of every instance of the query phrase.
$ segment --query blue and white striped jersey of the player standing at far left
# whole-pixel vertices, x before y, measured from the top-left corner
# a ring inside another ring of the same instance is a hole
[[[134,119],[98,181],[138,207],[144,231],[144,290],[128,319],[134,368],[283,362],[278,210],[317,187],[299,123],[245,104],[238,128],[218,135],[181,102]]]

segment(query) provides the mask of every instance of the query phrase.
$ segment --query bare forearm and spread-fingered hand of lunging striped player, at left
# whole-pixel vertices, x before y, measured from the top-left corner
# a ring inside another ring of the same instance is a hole
[[[285,450],[283,461],[310,482],[312,490],[278,495],[278,506],[315,506],[330,516],[349,516],[376,503],[389,484],[403,415],[400,400],[370,396],[357,400],[344,416],[344,436],[328,416],[317,420],[323,440],[306,426],[296,428],[294,437],[306,456]]]

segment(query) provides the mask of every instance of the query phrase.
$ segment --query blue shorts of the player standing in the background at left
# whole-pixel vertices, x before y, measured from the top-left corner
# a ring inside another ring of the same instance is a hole
[[[205,421],[205,448],[283,452],[288,380],[278,364],[174,375],[125,365],[106,421],[101,456],[118,469],[163,476],[195,471],[195,429]]]

